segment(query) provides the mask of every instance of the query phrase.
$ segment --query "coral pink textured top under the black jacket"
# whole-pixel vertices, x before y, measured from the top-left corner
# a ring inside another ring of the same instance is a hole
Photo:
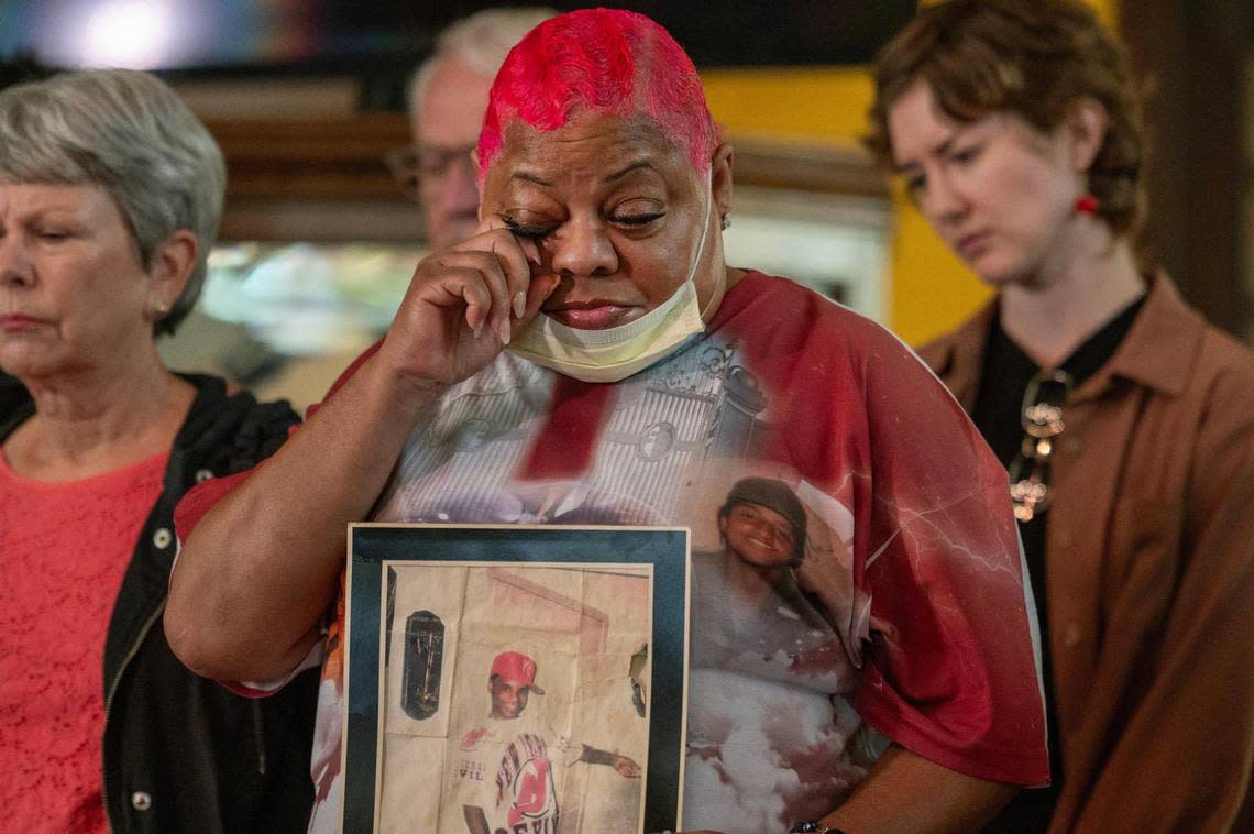
[[[0,448],[0,808],[5,830],[108,831],[104,636],[168,453],[43,482]]]

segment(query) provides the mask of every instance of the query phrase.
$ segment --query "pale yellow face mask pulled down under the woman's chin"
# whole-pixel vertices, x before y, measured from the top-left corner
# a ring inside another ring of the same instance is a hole
[[[706,197],[688,277],[670,298],[636,321],[606,330],[576,330],[540,314],[505,350],[584,383],[617,383],[666,359],[703,331],[695,277],[710,230],[712,183]]]

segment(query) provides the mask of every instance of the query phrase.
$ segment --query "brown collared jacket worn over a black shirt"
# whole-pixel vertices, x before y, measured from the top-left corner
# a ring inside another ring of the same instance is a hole
[[[919,351],[968,411],[996,310]],[[1065,415],[1050,830],[1254,830],[1254,356],[1159,275]]]

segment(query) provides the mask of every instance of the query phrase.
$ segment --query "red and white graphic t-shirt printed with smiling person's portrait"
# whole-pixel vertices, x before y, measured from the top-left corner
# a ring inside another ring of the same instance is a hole
[[[770,536],[737,544],[724,514],[746,479],[791,495],[800,542],[756,584],[744,563]],[[747,273],[703,334],[613,385],[502,354],[414,430],[375,520],[688,527],[686,829],[820,816],[889,740],[1048,779],[1004,470],[904,345],[790,281]]]

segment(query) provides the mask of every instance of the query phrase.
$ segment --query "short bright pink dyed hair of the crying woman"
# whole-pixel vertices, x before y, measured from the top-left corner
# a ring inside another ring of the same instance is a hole
[[[581,9],[545,20],[509,51],[488,95],[479,178],[500,154],[510,119],[556,130],[583,110],[643,115],[698,171],[710,168],[717,133],[683,48],[642,14]]]

